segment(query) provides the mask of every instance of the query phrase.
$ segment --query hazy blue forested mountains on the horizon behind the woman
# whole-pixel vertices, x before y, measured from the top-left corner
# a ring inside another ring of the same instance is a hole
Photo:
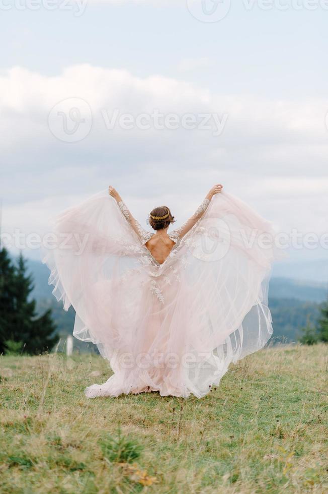
[[[48,268],[32,260],[28,260],[28,266],[34,277],[33,297],[38,301],[39,312],[51,307],[58,332],[63,336],[71,334],[74,326],[74,311],[70,308],[68,312],[64,312],[62,302],[57,302],[52,295],[53,287],[48,285]],[[271,278],[269,306],[275,339],[286,338],[288,341],[295,341],[307,320],[315,323],[319,314],[319,304],[326,298],[325,283],[305,282],[285,276]],[[79,343],[77,346],[84,348]]]

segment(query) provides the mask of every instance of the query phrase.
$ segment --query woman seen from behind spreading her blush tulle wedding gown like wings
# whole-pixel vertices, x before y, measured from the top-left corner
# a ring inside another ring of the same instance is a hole
[[[144,230],[113,187],[61,213],[43,262],[75,310],[73,335],[113,370],[88,398],[158,391],[198,398],[270,339],[272,225],[215,185],[180,228],[167,206]]]

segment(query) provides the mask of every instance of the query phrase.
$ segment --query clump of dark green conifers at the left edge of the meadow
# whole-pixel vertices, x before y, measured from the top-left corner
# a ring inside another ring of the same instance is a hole
[[[6,346],[9,348],[13,342],[22,342],[23,351],[41,353],[50,351],[58,341],[51,310],[37,316],[36,301],[31,298],[33,288],[23,256],[20,255],[17,266],[13,266],[8,252],[3,249],[0,252],[1,351],[6,351]]]

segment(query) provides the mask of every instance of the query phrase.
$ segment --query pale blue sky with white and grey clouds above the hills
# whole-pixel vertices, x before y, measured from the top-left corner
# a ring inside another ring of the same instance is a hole
[[[278,231],[327,231],[328,2],[0,4],[3,233],[109,184],[181,223],[216,182]]]

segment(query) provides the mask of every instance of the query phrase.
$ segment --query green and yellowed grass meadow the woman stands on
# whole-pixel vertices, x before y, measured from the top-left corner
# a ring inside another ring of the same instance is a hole
[[[0,491],[327,492],[327,364],[324,344],[272,347],[201,400],[87,400],[101,357],[2,356]]]

